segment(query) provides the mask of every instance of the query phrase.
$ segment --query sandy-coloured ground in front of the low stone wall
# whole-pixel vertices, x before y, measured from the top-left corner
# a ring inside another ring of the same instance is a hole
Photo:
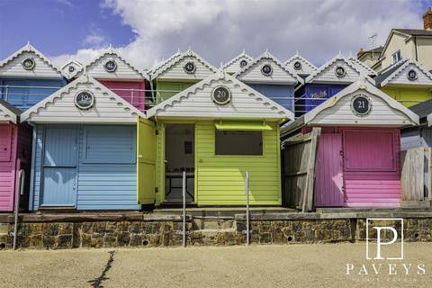
[[[390,262],[366,260],[361,243],[0,251],[0,286],[432,287],[432,243],[405,243],[404,250],[404,260]],[[382,264],[379,275],[373,263]],[[358,275],[363,264],[369,275]],[[411,264],[408,275],[403,264]]]

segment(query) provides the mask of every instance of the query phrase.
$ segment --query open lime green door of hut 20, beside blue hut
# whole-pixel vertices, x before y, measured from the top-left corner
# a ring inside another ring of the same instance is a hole
[[[156,127],[153,121],[138,121],[138,202],[153,204],[156,189]]]

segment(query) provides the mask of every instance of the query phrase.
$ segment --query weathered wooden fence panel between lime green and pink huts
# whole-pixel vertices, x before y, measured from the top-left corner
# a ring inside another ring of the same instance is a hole
[[[303,212],[313,210],[315,166],[320,141],[320,128],[283,142],[282,183],[284,206]]]

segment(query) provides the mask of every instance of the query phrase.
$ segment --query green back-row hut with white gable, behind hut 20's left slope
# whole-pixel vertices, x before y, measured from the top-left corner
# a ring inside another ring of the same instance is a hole
[[[201,56],[187,49],[177,51],[172,57],[159,63],[149,72],[156,103],[183,91],[216,72],[216,68]]]

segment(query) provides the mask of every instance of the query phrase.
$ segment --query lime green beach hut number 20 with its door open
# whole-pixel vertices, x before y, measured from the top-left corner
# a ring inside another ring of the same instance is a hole
[[[280,205],[279,126],[293,112],[218,71],[147,112],[138,125],[140,203]]]

